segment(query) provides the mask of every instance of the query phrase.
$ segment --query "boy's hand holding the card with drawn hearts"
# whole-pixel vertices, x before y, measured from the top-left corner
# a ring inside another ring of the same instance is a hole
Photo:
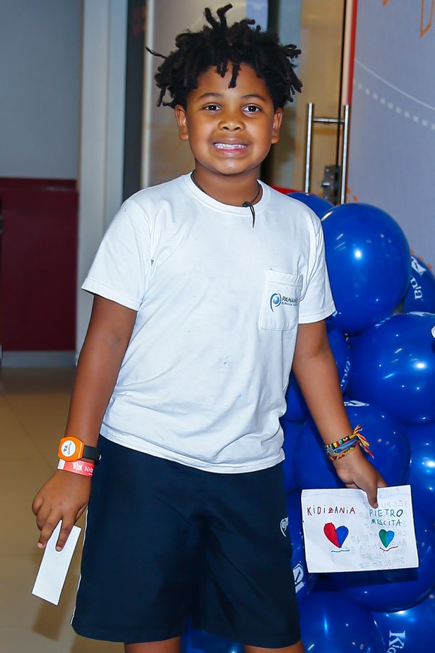
[[[377,508],[377,488],[387,487],[387,483],[366,459],[360,447],[355,447],[347,456],[334,461],[333,464],[344,485],[364,490],[370,506]]]

